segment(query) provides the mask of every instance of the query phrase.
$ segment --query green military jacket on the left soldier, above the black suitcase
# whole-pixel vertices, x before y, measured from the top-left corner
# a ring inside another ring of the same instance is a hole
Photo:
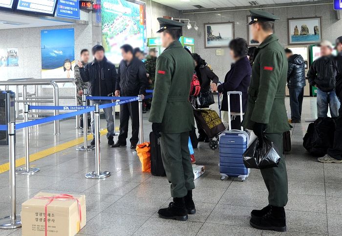
[[[175,40],[157,59],[149,121],[161,123],[161,132],[192,130],[194,118],[189,101],[194,70],[192,56]]]

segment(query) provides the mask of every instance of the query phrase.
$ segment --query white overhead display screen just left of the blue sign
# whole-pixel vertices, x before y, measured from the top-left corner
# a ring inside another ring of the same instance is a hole
[[[18,0],[17,10],[54,16],[57,0]]]

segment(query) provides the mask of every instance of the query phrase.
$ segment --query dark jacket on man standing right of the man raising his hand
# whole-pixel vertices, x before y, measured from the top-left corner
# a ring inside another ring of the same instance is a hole
[[[133,58],[129,64],[124,60],[120,62],[116,90],[120,90],[121,95],[137,96],[146,94],[148,84],[146,68],[141,60]]]

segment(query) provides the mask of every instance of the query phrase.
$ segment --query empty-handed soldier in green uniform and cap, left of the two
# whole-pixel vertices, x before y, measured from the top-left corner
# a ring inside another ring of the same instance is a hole
[[[149,121],[152,131],[160,137],[162,159],[171,183],[173,202],[160,209],[158,215],[166,219],[187,220],[195,214],[192,201],[193,171],[188,147],[189,132],[194,125],[189,101],[194,70],[191,55],[179,42],[181,22],[158,18],[162,45],[165,51],[157,59],[153,100]]]

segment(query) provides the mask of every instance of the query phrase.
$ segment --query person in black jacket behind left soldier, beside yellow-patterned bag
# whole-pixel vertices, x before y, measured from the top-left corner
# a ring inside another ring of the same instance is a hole
[[[208,91],[210,92],[210,88],[212,88],[213,91],[216,91],[218,77],[215,75],[212,69],[209,68],[207,62],[204,59],[202,59],[201,56],[199,56],[197,53],[193,53],[192,58],[195,62],[196,76],[199,80],[199,84],[201,85],[200,93],[204,93]],[[200,127],[198,127],[198,134],[199,134],[198,136],[199,142],[203,142],[203,141],[209,142],[208,136],[206,135],[204,130]]]

